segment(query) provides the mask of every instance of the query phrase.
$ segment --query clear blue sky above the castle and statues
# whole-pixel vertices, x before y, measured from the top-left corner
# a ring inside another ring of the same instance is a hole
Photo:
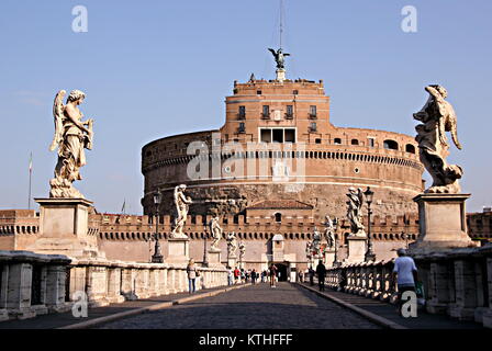
[[[491,205],[492,1],[286,0],[290,78],[323,79],[332,123],[414,135],[423,87],[447,88],[458,114],[468,211]],[[96,120],[78,188],[100,212],[141,213],[141,148],[159,137],[217,128],[234,80],[271,79],[278,0],[0,2],[0,208],[48,195],[56,154],[52,104],[59,89],[87,93]],[[88,32],[71,30],[75,5]],[[404,5],[417,33],[401,30]],[[128,208],[130,206],[130,208]]]

